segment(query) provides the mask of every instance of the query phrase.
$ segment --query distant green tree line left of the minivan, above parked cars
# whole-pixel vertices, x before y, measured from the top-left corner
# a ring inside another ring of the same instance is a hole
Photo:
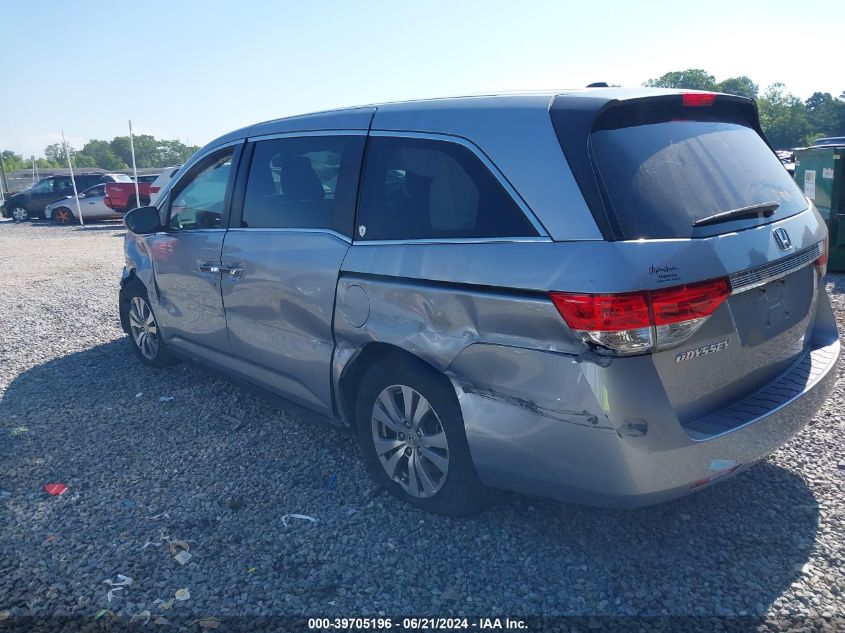
[[[185,145],[177,140],[157,139],[150,134],[134,137],[135,164],[138,167],[169,167],[184,163],[199,147]],[[82,149],[68,148],[74,168],[100,167],[109,171],[127,169],[132,165],[132,152],[128,136],[116,136],[111,141],[92,139]],[[0,153],[6,171],[32,169],[32,159],[12,151]],[[67,167],[65,150],[61,143],[44,148],[44,156],[37,158],[39,169]]]

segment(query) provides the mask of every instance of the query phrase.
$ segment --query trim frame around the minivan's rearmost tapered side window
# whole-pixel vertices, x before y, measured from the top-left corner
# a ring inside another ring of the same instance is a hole
[[[424,139],[431,141],[441,141],[444,143],[453,143],[461,145],[468,149],[482,164],[487,168],[487,171],[492,174],[499,185],[504,189],[505,193],[513,200],[528,222],[534,227],[538,235],[523,235],[512,237],[442,237],[442,238],[422,238],[422,239],[404,239],[404,240],[362,240],[356,239],[358,233],[358,226],[360,226],[360,212],[361,212],[361,191],[358,191],[358,204],[355,208],[355,231],[352,235],[352,243],[360,244],[361,246],[374,246],[377,244],[486,244],[496,242],[551,242],[551,237],[546,227],[542,225],[540,220],[528,206],[528,203],[523,200],[519,192],[508,181],[501,170],[484,151],[475,143],[463,136],[456,136],[453,134],[441,134],[435,132],[413,132],[406,130],[370,130],[369,137],[379,138],[410,138],[410,139]],[[369,148],[367,148],[368,150]],[[361,182],[363,182],[364,173],[367,169],[367,154],[364,152],[364,164],[361,168]]]

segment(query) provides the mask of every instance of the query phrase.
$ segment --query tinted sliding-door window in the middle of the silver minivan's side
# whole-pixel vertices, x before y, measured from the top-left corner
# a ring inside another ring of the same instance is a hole
[[[363,135],[258,141],[241,226],[331,229],[350,235]]]

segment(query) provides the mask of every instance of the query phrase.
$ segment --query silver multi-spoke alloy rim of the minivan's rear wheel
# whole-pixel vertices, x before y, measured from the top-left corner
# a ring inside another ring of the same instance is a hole
[[[409,495],[431,497],[446,483],[449,442],[437,412],[406,385],[385,388],[373,405],[372,434],[387,476]]]

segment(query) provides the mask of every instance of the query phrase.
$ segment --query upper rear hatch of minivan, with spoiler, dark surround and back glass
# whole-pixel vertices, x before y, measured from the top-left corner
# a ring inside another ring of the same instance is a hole
[[[558,97],[551,116],[607,240],[708,237],[807,208],[749,99],[679,93],[598,109],[590,101]]]

